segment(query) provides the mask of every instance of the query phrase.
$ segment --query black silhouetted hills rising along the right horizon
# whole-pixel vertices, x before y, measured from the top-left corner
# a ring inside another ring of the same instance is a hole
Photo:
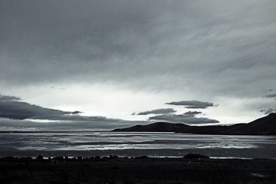
[[[112,132],[176,132],[190,134],[276,135],[276,113],[250,123],[235,125],[190,126],[183,123],[158,122],[112,130]]]

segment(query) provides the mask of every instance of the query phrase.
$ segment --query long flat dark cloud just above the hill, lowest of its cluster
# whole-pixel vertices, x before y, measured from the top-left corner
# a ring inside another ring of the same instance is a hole
[[[194,115],[187,114],[163,114],[152,116],[149,120],[167,121],[171,123],[186,123],[186,124],[204,124],[204,123],[219,123],[215,119],[197,118]]]

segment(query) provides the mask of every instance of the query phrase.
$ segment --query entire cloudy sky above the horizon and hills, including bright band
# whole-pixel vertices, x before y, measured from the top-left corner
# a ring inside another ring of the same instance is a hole
[[[276,112],[274,0],[1,0],[0,130]]]

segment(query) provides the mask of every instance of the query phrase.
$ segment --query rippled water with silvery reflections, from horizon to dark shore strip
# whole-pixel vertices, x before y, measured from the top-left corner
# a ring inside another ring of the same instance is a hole
[[[1,133],[1,150],[246,149],[276,147],[276,136],[173,133]]]

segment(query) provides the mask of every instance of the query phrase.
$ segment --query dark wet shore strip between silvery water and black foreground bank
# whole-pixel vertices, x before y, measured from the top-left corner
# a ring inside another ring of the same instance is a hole
[[[276,159],[275,149],[266,147],[265,149],[186,149],[186,150],[175,150],[175,149],[126,149],[126,150],[1,150],[0,157],[14,156],[14,157],[36,157],[37,155],[43,156],[109,156],[109,155],[119,155],[119,156],[150,156],[150,157],[182,157],[188,153],[204,154],[212,158],[221,157],[232,157],[232,158],[246,158],[246,159]]]

